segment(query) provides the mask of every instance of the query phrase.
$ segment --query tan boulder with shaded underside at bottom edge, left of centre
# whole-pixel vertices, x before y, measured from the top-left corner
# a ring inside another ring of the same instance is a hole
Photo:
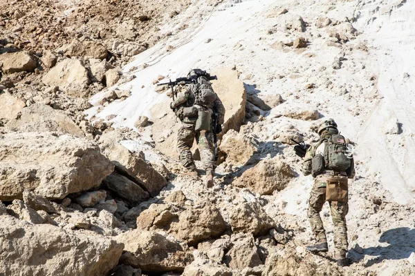
[[[181,272],[193,262],[192,253],[158,233],[136,229],[117,236],[116,240],[125,244],[120,262],[143,271]]]

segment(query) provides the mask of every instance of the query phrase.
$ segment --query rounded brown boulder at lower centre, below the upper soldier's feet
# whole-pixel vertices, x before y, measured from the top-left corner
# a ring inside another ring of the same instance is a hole
[[[225,230],[225,221],[219,210],[209,203],[202,203],[183,211],[178,222],[172,223],[172,233],[190,246],[214,237]]]

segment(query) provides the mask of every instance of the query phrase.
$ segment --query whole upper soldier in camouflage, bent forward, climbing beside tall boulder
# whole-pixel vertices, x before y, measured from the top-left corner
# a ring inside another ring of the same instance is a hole
[[[214,134],[222,131],[221,125],[225,117],[225,108],[212,89],[208,73],[194,69],[189,72],[187,79],[193,79],[194,82],[179,86],[180,92],[176,99],[170,103],[170,108],[176,112],[182,122],[180,130],[178,130],[177,152],[181,164],[187,169],[187,172],[197,175],[190,151],[193,141],[196,139],[206,172],[206,186],[211,188],[216,168]],[[216,118],[215,126],[212,124],[212,117]]]

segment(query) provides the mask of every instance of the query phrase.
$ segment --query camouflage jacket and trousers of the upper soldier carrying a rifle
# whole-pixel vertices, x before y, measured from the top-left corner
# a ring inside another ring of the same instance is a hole
[[[199,147],[201,161],[205,168],[206,175],[213,175],[216,167],[214,160],[214,142],[213,132],[209,130],[194,130],[196,125],[197,115],[195,117],[183,116],[183,108],[194,106],[194,95],[197,92],[197,86],[193,83],[181,86],[178,88],[180,92],[175,101],[172,102],[172,108],[176,108],[176,115],[181,119],[182,126],[178,130],[177,152],[180,157],[181,164],[192,171],[196,169],[190,148],[192,148],[193,141],[196,138],[196,143]],[[209,106],[195,106],[197,110],[209,111],[211,114],[216,112],[218,114],[217,124],[223,124],[225,117],[225,108],[223,103],[216,97],[216,99]]]

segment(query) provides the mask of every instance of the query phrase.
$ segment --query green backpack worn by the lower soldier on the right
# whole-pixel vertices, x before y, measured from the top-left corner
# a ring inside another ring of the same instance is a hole
[[[332,135],[324,147],[326,169],[345,172],[351,166],[351,159],[346,156],[347,143],[343,135]]]

